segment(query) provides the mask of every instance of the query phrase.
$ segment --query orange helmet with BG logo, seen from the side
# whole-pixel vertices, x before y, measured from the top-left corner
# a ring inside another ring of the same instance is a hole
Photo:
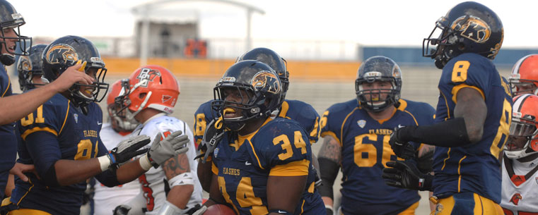
[[[151,108],[165,113],[174,112],[177,96],[180,94],[180,83],[170,70],[156,65],[137,68],[122,81],[124,93],[115,99],[121,110],[119,116],[132,119],[140,111]]]

